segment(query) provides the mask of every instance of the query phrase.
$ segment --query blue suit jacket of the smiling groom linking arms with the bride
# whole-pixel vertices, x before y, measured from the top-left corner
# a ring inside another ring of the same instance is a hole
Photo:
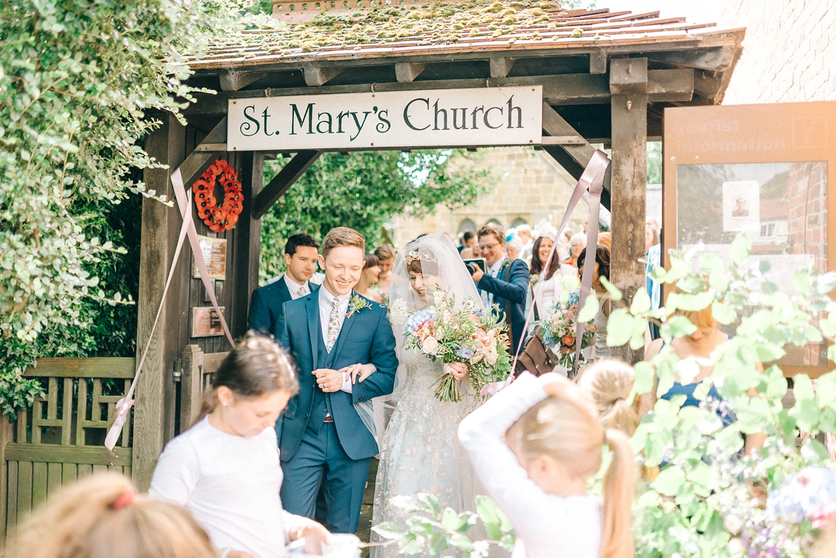
[[[352,293],[352,297],[359,295]],[[327,402],[339,443],[351,459],[367,459],[380,452],[375,437],[354,409],[354,403],[392,393],[398,358],[395,356],[395,335],[386,317],[386,307],[365,300],[370,307],[345,317],[337,342],[324,358],[319,353],[322,340],[319,292],[314,291],[284,303],[275,336],[293,354],[299,374],[299,393],[290,399],[282,418],[279,447],[283,461],[296,453],[308,421],[324,418],[322,409],[318,408],[318,412],[314,413],[314,398]],[[318,368],[339,370],[356,363],[374,364],[377,370],[363,382],[355,383],[352,393],[322,393],[312,374]]]

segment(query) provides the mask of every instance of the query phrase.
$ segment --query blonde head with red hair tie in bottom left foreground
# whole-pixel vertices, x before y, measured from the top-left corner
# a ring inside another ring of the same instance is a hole
[[[18,558],[217,558],[206,531],[178,505],[137,495],[130,479],[95,474],[65,486],[18,531]]]

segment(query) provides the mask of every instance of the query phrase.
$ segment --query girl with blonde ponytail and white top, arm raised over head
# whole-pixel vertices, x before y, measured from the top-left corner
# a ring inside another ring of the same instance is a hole
[[[571,380],[523,373],[461,421],[459,439],[511,520],[512,558],[634,555],[630,442],[620,430],[601,427],[594,403]],[[586,483],[601,466],[604,444],[613,456],[599,504]]]

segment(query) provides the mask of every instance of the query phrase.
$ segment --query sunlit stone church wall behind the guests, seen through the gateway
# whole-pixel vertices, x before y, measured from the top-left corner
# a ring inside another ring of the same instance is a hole
[[[552,216],[553,224],[558,225],[577,180],[548,154],[527,147],[497,148],[484,152],[480,164],[489,167],[499,179],[490,195],[456,211],[441,206],[435,215],[420,220],[395,218],[395,245],[403,246],[415,236],[429,232],[456,236],[466,219],[477,227],[495,220],[507,229],[518,219],[536,226],[541,219]],[[581,231],[587,211],[586,201],[581,200],[568,227]]]

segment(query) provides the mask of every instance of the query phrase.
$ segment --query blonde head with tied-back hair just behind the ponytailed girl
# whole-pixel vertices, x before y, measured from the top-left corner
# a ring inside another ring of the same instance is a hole
[[[601,358],[585,367],[578,379],[581,393],[592,399],[605,429],[619,429],[632,436],[642,413],[639,398],[627,404],[635,383],[635,370],[615,358]]]

